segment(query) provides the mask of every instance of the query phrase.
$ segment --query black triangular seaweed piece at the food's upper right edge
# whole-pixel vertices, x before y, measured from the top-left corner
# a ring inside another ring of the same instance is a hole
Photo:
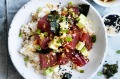
[[[81,4],[78,6],[80,13],[82,13],[85,16],[88,15],[89,8],[90,8],[90,5],[87,5],[87,4]]]

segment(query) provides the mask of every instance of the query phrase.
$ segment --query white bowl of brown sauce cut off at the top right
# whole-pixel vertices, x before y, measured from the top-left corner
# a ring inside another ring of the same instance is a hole
[[[112,2],[102,2],[100,0],[93,0],[93,1],[96,2],[98,5],[103,6],[103,7],[113,7],[113,6],[120,5],[120,0],[115,0]]]

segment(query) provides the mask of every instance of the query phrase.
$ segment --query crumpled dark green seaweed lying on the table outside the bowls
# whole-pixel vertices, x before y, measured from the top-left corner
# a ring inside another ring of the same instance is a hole
[[[118,64],[104,65],[103,74],[106,76],[106,78],[110,78],[114,76],[114,74],[117,72],[118,72]]]

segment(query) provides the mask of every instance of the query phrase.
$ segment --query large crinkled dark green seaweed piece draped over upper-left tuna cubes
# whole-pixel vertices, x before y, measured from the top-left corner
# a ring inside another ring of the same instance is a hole
[[[47,18],[47,20],[50,22],[51,31],[55,35],[59,35],[59,31],[60,31],[59,18],[60,18],[60,15],[56,10],[51,11]]]

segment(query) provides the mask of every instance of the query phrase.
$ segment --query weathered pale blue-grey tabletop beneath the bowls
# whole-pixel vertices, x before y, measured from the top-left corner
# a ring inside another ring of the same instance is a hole
[[[0,0],[0,79],[23,79],[16,71],[8,55],[7,33],[13,16],[28,1],[29,0]],[[120,6],[105,8],[97,5],[93,0],[87,1],[98,10],[101,17],[109,12],[120,12]],[[118,61],[119,64],[119,72],[110,79],[120,79],[120,54],[116,53],[117,50],[120,50],[120,36],[108,37],[107,56],[105,58],[107,62],[105,63],[114,64]],[[96,74],[93,79],[105,79],[105,77]]]

